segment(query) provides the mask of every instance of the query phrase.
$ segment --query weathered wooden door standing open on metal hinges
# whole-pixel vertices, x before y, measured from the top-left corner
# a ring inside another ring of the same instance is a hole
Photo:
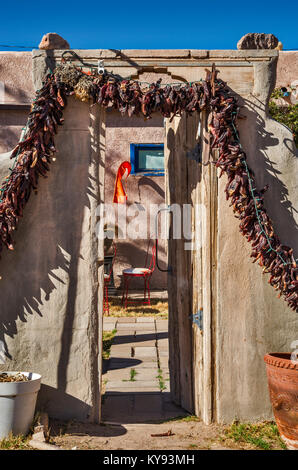
[[[213,165],[202,164],[209,159],[207,136],[204,115],[166,121],[166,202],[181,209],[180,220],[175,215],[170,219],[168,242],[171,393],[175,403],[208,423],[212,420],[211,286],[217,178]],[[187,213],[191,240],[185,230]],[[180,238],[175,238],[177,224]]]

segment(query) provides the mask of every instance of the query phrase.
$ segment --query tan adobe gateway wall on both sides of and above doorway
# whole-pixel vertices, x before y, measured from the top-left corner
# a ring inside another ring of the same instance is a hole
[[[215,61],[220,77],[244,105],[246,120],[239,126],[248,162],[258,186],[269,182],[268,211],[297,256],[297,150],[290,131],[268,117],[266,106],[275,82],[275,51],[76,52],[94,63],[104,58],[109,70],[122,76],[138,77],[138,63],[147,67],[157,61],[157,75],[166,68],[173,78],[187,81],[204,77],[205,67]],[[45,58],[44,52],[34,53],[37,88]],[[61,51],[55,51],[51,61],[60,58]],[[15,252],[5,251],[0,263],[0,339],[7,352],[1,370],[41,372],[41,405],[52,415],[81,420],[99,415],[103,252],[93,229],[96,206],[103,200],[103,120],[99,108],[70,101],[57,137],[57,162],[49,178],[40,181],[39,194],[32,195]],[[0,165],[3,178],[7,156]],[[203,319],[203,336],[212,337],[211,376],[205,384],[216,421],[267,419],[272,411],[263,355],[290,350],[298,317],[250,262],[250,246],[225,200],[225,184],[224,178],[218,181],[213,304]],[[202,282],[201,273],[197,280]],[[189,312],[183,313],[183,321],[190,321]]]

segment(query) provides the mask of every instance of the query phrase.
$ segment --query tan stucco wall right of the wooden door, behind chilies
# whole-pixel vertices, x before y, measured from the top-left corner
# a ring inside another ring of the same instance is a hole
[[[267,114],[275,64],[254,66],[254,87],[242,97],[246,116],[239,123],[241,143],[258,188],[269,184],[265,204],[282,243],[298,254],[298,152],[291,132]],[[216,417],[271,419],[263,356],[291,351],[298,338],[298,315],[268,284],[268,275],[250,261],[250,244],[218,186],[218,275],[216,308]]]

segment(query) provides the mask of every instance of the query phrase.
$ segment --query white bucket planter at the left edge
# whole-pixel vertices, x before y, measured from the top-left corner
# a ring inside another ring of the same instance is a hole
[[[3,373],[4,371],[1,371]],[[28,382],[0,382],[0,439],[11,432],[27,434],[33,423],[41,375],[32,372],[5,372],[24,374]]]

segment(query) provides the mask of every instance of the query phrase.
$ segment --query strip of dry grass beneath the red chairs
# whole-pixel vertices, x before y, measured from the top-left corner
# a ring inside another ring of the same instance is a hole
[[[151,305],[131,304],[125,309],[121,298],[112,297],[109,301],[110,317],[146,317],[168,318],[168,301],[166,299],[151,299]]]

